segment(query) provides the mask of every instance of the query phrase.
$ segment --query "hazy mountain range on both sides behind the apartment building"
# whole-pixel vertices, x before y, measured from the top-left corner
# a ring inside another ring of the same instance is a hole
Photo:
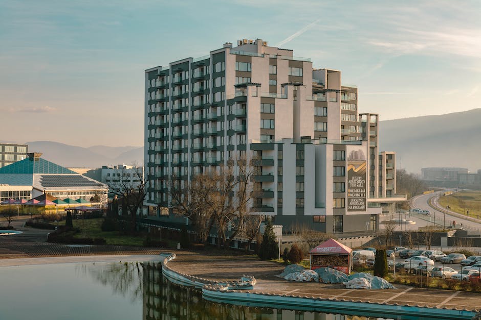
[[[385,120],[379,123],[379,151],[395,151],[397,167],[420,173],[423,167],[481,169],[481,109]],[[79,147],[53,141],[27,142],[29,152],[65,167],[143,164],[142,146]]]

